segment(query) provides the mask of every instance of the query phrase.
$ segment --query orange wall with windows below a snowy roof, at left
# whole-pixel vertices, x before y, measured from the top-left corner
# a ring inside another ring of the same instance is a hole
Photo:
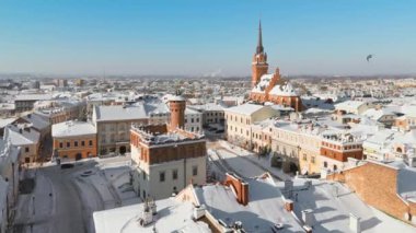
[[[82,145],[82,141],[84,141],[85,145]],[[90,141],[92,142],[91,145]],[[78,147],[74,145],[76,142],[78,142]],[[69,147],[67,147],[67,143],[69,143]],[[96,135],[54,138],[55,150],[59,158],[69,158],[71,160],[96,156]],[[77,158],[78,154],[81,154],[81,158]]]

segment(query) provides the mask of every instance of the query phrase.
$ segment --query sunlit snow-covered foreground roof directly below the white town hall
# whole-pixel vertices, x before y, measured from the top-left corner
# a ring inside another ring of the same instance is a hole
[[[208,224],[194,221],[193,203],[180,202],[173,198],[157,200],[158,214],[154,223],[140,226],[138,219],[141,217],[143,203],[103,210],[93,213],[96,233],[137,233],[153,232],[153,224],[158,232],[208,233],[211,232]]]

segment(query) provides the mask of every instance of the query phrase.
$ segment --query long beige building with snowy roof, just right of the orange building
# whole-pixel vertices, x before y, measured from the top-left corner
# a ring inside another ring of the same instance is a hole
[[[92,121],[97,129],[99,154],[129,152],[129,130],[132,124],[165,124],[169,119],[170,108],[158,98],[131,105],[95,106]]]

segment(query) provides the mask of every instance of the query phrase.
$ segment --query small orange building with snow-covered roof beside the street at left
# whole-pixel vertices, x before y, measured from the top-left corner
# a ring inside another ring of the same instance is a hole
[[[53,125],[54,156],[81,160],[97,155],[96,129],[91,123],[65,121]]]

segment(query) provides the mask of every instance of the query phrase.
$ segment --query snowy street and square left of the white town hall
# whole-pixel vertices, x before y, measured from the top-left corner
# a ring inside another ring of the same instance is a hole
[[[77,162],[72,168],[62,170],[60,166],[46,164],[26,171],[26,176],[34,177],[35,187],[31,194],[19,196],[12,232],[94,232],[94,211],[123,206],[125,202],[139,202],[132,191],[119,195],[122,191],[114,187],[127,180],[128,170],[123,166],[126,161],[129,158],[93,159]],[[90,174],[91,171],[99,175],[80,175]],[[117,177],[107,180],[103,178],[106,173],[112,177],[117,174]],[[96,188],[94,183],[100,183],[102,188]],[[112,195],[106,195],[108,193]]]

